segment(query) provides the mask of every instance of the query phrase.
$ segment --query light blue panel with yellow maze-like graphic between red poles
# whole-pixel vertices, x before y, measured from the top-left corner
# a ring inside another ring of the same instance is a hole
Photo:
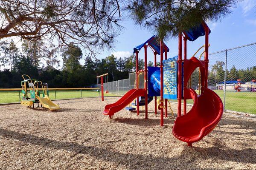
[[[178,56],[163,60],[163,98],[177,99]]]

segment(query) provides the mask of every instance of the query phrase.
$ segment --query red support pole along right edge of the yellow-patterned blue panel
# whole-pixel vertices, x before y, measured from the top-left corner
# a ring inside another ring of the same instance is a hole
[[[179,41],[178,41],[178,117],[181,116],[181,93],[182,93],[182,34],[179,33]]]

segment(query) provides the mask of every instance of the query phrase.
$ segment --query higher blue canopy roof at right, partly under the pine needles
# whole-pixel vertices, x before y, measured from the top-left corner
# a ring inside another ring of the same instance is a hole
[[[205,25],[207,26],[206,23]],[[189,31],[184,31],[184,33],[186,34],[186,37],[188,38],[189,41],[195,41],[196,39],[198,39],[198,37],[205,35],[204,26],[203,24],[200,24],[200,26],[190,28]],[[211,30],[209,29],[209,34],[210,33],[211,33]]]

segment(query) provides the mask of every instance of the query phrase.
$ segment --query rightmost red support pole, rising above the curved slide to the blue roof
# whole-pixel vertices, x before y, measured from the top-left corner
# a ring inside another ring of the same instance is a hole
[[[205,30],[205,44],[204,44],[204,68],[205,68],[205,88],[208,88],[208,49],[209,49],[209,28],[204,24]],[[204,90],[204,89],[202,89]]]

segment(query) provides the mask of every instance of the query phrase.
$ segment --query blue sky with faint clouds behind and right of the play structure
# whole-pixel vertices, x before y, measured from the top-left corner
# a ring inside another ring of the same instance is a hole
[[[211,44],[209,53],[256,42],[256,0],[244,0],[232,11],[232,14],[217,23],[207,23],[212,31],[209,35],[209,43]],[[122,23],[124,30],[116,39],[118,42],[115,44],[114,51],[102,51],[101,54],[97,55],[98,58],[105,58],[110,54],[114,54],[116,57],[128,57],[132,54],[135,46],[145,42],[154,34],[153,31],[148,32],[136,26],[131,20],[125,20]],[[177,38],[165,43],[170,48],[168,57],[177,55]],[[187,56],[191,57],[203,44],[204,37],[200,37],[194,42],[188,42]],[[143,50],[140,51],[139,57],[144,57]],[[148,49],[148,60],[154,61],[153,57],[154,55]]]

